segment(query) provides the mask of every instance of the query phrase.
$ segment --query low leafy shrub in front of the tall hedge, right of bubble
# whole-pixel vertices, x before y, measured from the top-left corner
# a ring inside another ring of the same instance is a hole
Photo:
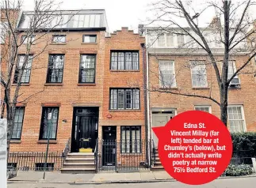
[[[252,168],[247,164],[229,164],[227,169],[224,171],[224,175],[227,176],[251,175],[252,173]]]

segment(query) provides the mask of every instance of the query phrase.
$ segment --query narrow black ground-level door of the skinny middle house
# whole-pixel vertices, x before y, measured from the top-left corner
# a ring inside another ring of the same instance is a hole
[[[102,126],[102,164],[103,166],[116,165],[117,126]]]

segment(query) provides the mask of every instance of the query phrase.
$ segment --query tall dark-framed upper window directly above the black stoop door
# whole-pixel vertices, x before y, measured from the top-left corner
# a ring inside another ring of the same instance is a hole
[[[95,83],[96,55],[81,55],[79,83]]]

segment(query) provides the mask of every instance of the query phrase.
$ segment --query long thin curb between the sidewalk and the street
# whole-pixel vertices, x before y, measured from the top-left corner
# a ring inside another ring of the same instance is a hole
[[[244,175],[244,176],[226,176],[226,177],[219,177],[218,179],[240,179],[240,178],[255,178],[256,174],[254,175]],[[48,182],[47,180],[40,179],[37,180],[9,180],[8,182],[19,182],[19,183],[26,183],[26,182],[40,182],[40,183],[70,183],[70,184],[117,184],[117,183],[143,183],[143,182],[177,182],[176,179],[150,179],[150,180],[120,180],[120,181],[71,181],[71,182]]]

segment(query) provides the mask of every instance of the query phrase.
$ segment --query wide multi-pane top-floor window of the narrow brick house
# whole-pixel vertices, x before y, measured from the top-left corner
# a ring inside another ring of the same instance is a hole
[[[139,52],[111,52],[111,70],[139,70]]]

